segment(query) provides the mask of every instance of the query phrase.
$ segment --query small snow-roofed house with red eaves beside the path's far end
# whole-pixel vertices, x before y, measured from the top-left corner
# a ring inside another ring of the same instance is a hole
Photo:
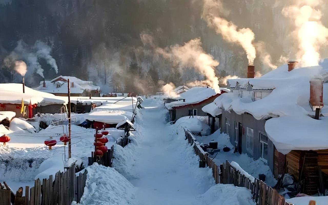
[[[184,116],[206,116],[202,107],[213,102],[221,93],[216,93],[209,87],[193,87],[173,98],[176,101],[166,103],[165,107],[170,111],[170,120],[175,122]]]

